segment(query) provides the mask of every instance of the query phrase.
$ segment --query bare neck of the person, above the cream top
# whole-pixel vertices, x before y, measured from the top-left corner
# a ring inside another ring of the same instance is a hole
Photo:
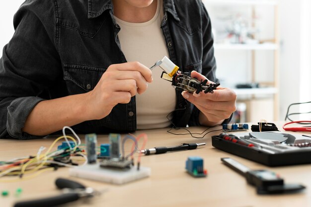
[[[119,19],[131,23],[143,23],[152,19],[156,14],[157,0],[150,5],[135,6],[126,0],[112,0],[113,13]]]

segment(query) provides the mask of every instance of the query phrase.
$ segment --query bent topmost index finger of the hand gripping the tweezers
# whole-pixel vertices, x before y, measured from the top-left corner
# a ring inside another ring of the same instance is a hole
[[[113,69],[120,70],[120,71],[138,71],[142,74],[142,76],[145,78],[147,82],[152,83],[153,81],[151,70],[139,62],[114,64],[114,65],[111,65],[111,67]]]

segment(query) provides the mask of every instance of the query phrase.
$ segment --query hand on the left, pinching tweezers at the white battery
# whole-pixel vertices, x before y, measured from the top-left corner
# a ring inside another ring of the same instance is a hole
[[[152,83],[151,70],[139,62],[113,64],[104,72],[95,88],[86,93],[86,120],[107,116],[118,103],[129,103]]]

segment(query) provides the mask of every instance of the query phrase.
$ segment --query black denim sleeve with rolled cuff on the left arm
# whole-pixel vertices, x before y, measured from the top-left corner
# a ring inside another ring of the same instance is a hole
[[[41,0],[40,0],[41,1]],[[55,46],[54,5],[26,0],[14,15],[15,33],[0,59],[0,138],[37,138],[22,132],[61,70]],[[42,1],[41,1],[42,2]],[[41,98],[40,98],[41,97]]]

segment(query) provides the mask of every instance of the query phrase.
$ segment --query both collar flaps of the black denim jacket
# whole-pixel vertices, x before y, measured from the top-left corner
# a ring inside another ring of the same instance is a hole
[[[174,0],[163,0],[163,8],[164,11],[171,13],[177,21],[180,20],[176,12]],[[112,0],[88,0],[87,18],[95,18],[107,9],[110,9],[113,13]]]

